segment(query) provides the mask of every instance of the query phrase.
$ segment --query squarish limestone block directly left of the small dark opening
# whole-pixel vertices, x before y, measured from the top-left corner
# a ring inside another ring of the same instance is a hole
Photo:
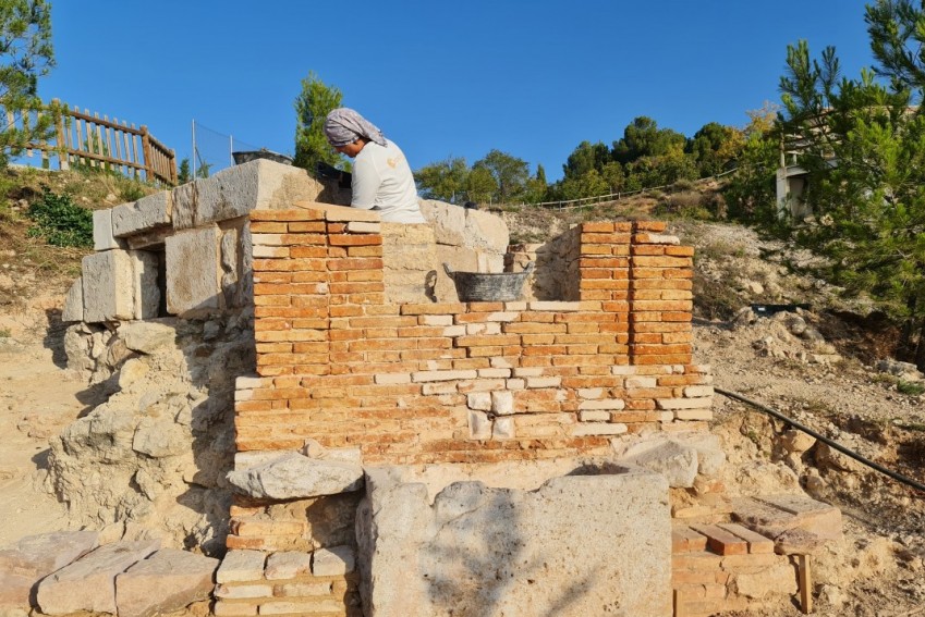
[[[84,321],[121,321],[157,317],[160,289],[157,255],[144,250],[107,250],[84,257]]]

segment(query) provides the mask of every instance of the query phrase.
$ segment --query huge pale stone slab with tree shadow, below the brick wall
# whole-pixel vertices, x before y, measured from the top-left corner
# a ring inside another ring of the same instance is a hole
[[[645,471],[535,491],[424,483],[367,469],[357,518],[367,615],[671,615],[668,485]]]

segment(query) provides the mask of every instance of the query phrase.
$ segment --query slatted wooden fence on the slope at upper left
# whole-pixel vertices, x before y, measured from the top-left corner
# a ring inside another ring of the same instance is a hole
[[[54,101],[58,103],[58,101]],[[58,103],[60,104],[60,103]],[[58,157],[62,170],[72,165],[114,170],[125,175],[157,182],[177,184],[177,155],[148,133],[147,126],[136,127],[113,118],[90,115],[88,110],[60,107],[62,113],[57,122],[54,139],[31,144],[26,156],[38,150],[48,166],[50,157]],[[19,121],[19,122],[17,122]],[[28,116],[14,118],[7,112],[8,125],[28,125]],[[32,120],[36,122],[36,120]]]

